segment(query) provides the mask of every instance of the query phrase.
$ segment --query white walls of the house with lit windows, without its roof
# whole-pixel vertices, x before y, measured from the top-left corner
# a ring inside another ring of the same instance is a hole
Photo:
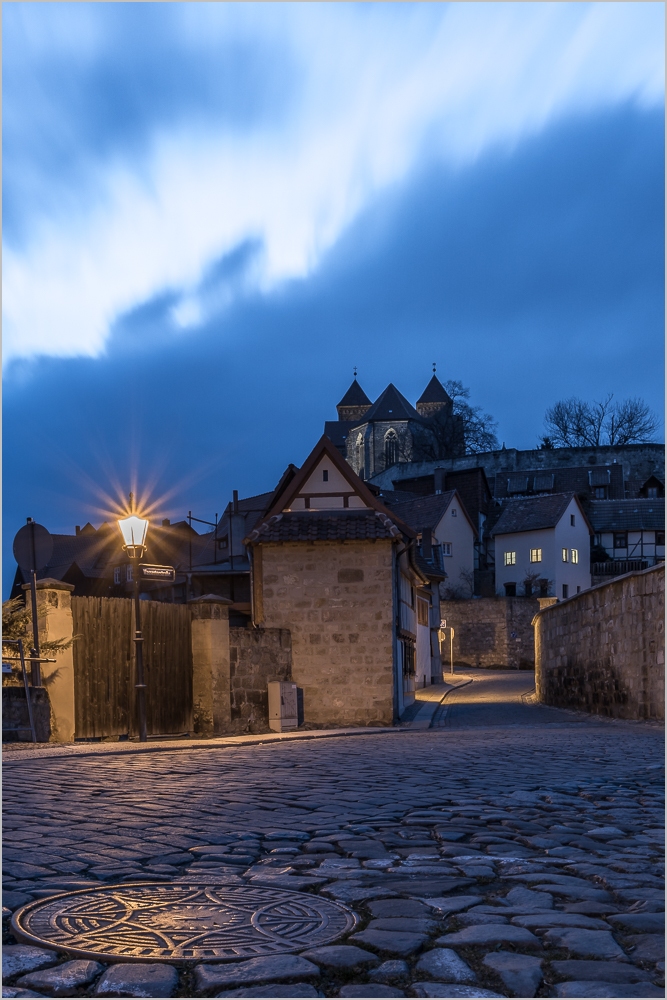
[[[570,515],[575,523],[570,524]],[[542,561],[531,563],[530,550],[542,549]],[[562,549],[568,550],[568,562],[563,562]],[[578,563],[572,562],[572,549],[579,554]],[[523,580],[527,573],[539,573],[551,583],[549,594],[563,598],[563,584],[568,587],[568,597],[591,585],[590,535],[579,506],[570,501],[555,528],[540,531],[521,531],[511,535],[496,535],[496,593],[504,596],[505,584],[515,583],[517,595],[523,594]],[[505,552],[516,552],[516,565],[505,566]]]

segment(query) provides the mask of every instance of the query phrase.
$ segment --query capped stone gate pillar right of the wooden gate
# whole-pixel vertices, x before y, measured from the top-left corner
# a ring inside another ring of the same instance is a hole
[[[212,736],[232,721],[229,605],[216,594],[188,601],[192,609],[192,705],[196,733]]]

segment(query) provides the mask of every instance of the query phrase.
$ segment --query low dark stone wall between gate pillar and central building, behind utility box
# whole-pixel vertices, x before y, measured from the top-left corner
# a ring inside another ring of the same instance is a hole
[[[268,725],[269,681],[292,679],[292,637],[284,628],[230,628],[231,731]]]

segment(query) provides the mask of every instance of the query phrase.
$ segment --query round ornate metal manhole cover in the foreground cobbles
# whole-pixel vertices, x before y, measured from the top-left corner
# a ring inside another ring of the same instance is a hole
[[[82,958],[224,961],[336,941],[357,918],[340,903],[259,886],[131,883],[28,903],[17,937]]]

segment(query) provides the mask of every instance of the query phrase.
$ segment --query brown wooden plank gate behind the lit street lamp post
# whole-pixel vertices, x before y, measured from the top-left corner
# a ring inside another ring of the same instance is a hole
[[[136,735],[133,601],[73,597],[76,738]],[[141,602],[147,730],[192,730],[190,609]]]

